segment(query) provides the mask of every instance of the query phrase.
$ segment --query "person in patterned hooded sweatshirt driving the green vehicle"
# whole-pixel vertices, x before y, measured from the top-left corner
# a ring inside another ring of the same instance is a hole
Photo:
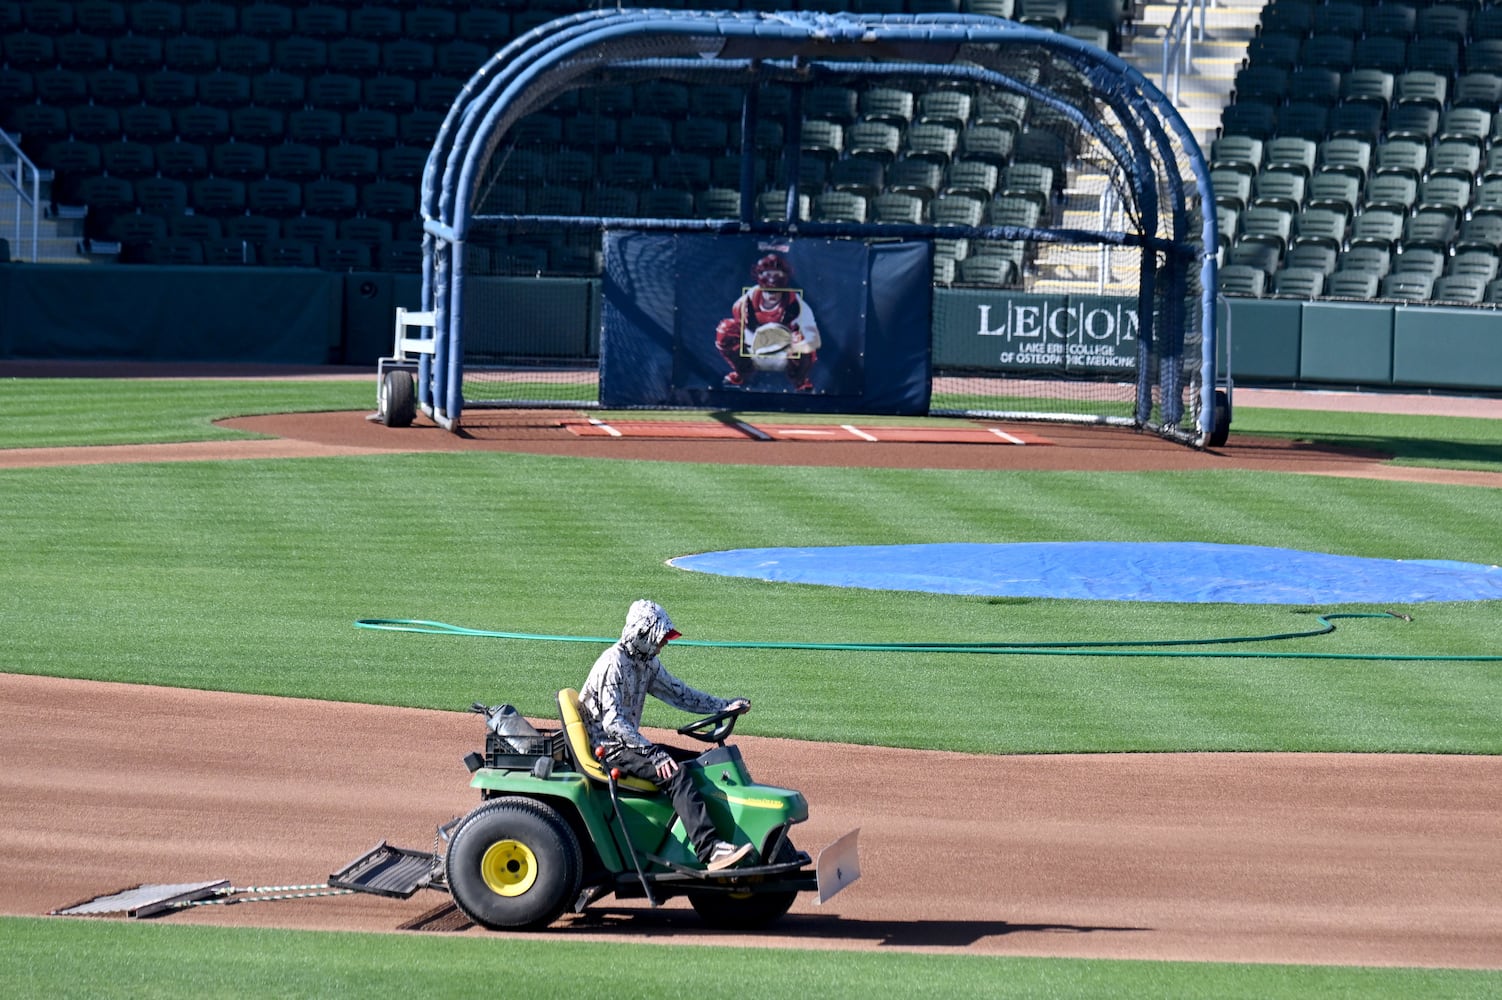
[[[619,767],[626,775],[646,778],[671,796],[698,860],[709,871],[719,871],[745,860],[751,845],[736,847],[719,839],[704,799],[683,767],[697,754],[653,743],[637,727],[641,725],[647,695],[698,715],[746,712],[751,701],[716,698],[670,674],[658,653],[679,635],[661,605],[653,601],[634,602],[626,611],[620,641],[599,655],[584,680],[578,697],[580,713],[589,728],[590,745],[605,751],[605,764]]]

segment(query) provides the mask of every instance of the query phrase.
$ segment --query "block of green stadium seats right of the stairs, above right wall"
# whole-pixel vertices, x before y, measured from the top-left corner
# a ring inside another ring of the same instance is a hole
[[[1502,302],[1499,101],[1502,8],[1269,0],[1209,150],[1221,291]]]

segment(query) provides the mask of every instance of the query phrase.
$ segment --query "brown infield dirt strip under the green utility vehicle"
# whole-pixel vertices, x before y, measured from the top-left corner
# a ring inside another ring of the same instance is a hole
[[[0,674],[0,913],[41,916],[140,883],[320,883],[382,839],[430,850],[439,823],[478,803],[460,758],[481,734],[461,712]],[[760,779],[807,793],[799,847],[861,827],[861,881],[826,907],[799,896],[769,932],[707,931],[683,901],[605,899],[547,935],[1502,965],[1502,757],[736,742]],[[431,890],[156,919],[487,934]]]

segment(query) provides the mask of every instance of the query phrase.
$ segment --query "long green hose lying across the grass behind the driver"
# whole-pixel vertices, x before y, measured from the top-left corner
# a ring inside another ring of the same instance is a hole
[[[1266,650],[1166,650],[1167,646],[1229,646],[1238,643],[1274,643],[1280,640],[1313,638],[1335,631],[1334,619],[1401,619],[1406,614],[1392,611],[1320,614],[1320,628],[1301,632],[1275,632],[1272,635],[1235,635],[1197,640],[1137,640],[1101,643],[765,643],[765,641],[713,641],[673,640],[673,646],[703,646],[710,649],[786,649],[861,653],[990,653],[993,656],[1196,656],[1239,659],[1371,659],[1371,661],[1422,661],[1422,662],[1502,662],[1502,656],[1487,655],[1428,655],[1428,653],[1272,653]],[[613,637],[601,635],[539,635],[533,632],[496,632],[470,629],[446,622],[422,619],[360,619],[360,629],[385,629],[391,632],[424,632],[428,635],[478,635],[484,638],[508,638],[544,643],[614,643]]]

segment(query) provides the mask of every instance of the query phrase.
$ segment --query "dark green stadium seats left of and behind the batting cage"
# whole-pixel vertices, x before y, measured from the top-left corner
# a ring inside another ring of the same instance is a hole
[[[86,210],[92,245],[117,245],[123,261],[415,270],[418,185],[454,96],[506,42],[589,6],[6,0],[0,126],[54,171],[54,204]],[[847,9],[832,0],[795,6]],[[1130,0],[883,0],[861,9],[1014,18],[1110,50],[1134,15]],[[778,87],[762,93],[754,170],[765,218],[790,207],[778,114],[789,98]],[[792,210],[892,224],[1047,222],[1068,144],[1026,113],[1011,96],[963,89],[811,87],[796,137],[802,197]],[[656,81],[566,95],[517,125],[487,207],[736,215],[739,114],[734,87]],[[1448,128],[1473,132],[1478,123]],[[1263,185],[1268,198],[1272,186]],[[1020,246],[945,240],[937,273],[1015,282],[1026,267]],[[599,266],[577,237],[475,252],[527,273]]]

